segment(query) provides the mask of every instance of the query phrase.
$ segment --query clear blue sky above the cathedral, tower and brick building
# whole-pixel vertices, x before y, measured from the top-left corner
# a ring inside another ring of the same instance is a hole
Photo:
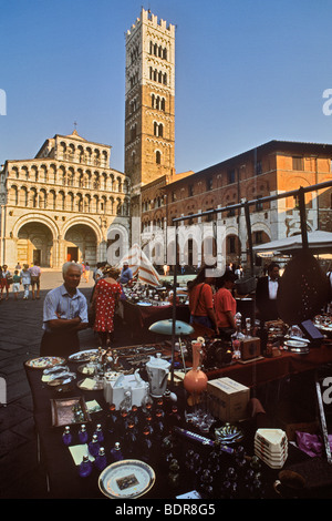
[[[0,0],[0,164],[76,121],[123,172],[124,34],[142,7],[176,25],[177,172],[274,139],[332,143],[330,0]]]

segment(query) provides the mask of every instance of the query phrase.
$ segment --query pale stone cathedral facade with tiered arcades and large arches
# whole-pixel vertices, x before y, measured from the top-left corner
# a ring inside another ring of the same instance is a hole
[[[129,178],[110,167],[111,146],[76,131],[44,142],[0,172],[0,264],[105,260],[112,228],[128,233]]]

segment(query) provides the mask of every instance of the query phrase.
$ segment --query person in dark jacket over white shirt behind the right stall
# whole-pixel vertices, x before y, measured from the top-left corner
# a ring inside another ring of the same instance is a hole
[[[271,263],[268,267],[268,275],[260,277],[256,287],[256,307],[259,318],[263,321],[277,320],[277,294],[279,287],[279,264]]]

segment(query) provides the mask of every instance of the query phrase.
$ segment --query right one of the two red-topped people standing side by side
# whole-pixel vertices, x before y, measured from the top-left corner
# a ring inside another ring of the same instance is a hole
[[[215,311],[221,336],[229,336],[236,328],[237,303],[231,294],[237,276],[229,269],[216,279]]]

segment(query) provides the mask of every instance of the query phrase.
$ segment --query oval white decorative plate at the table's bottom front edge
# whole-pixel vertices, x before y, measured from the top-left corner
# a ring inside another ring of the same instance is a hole
[[[107,498],[135,499],[146,494],[155,480],[154,470],[144,461],[122,460],[103,470],[98,487]]]

